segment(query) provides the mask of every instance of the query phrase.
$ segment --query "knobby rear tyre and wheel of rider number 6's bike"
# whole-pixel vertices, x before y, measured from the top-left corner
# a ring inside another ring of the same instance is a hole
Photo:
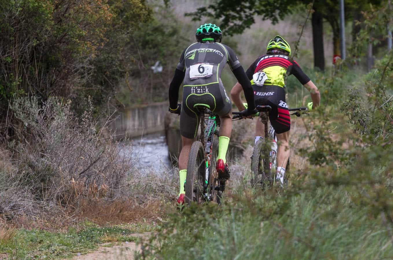
[[[201,203],[203,200],[203,180],[205,174],[205,152],[200,141],[191,146],[185,178],[185,203]]]

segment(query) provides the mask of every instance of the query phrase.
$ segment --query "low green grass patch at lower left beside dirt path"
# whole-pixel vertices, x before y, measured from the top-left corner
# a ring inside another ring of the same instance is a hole
[[[53,233],[40,229],[0,230],[0,254],[9,258],[68,258],[77,253],[86,253],[105,242],[135,242],[134,233],[156,231],[154,223],[125,224],[114,227],[99,227],[85,222],[79,230],[70,228],[65,233]]]

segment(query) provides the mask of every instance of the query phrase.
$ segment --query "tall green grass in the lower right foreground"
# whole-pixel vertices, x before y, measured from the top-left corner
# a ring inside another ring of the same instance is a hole
[[[222,207],[192,205],[171,216],[145,255],[152,259],[391,258],[388,231],[344,188],[323,187],[284,196],[252,191]],[[196,214],[198,213],[198,214]],[[165,230],[165,232],[163,232]]]

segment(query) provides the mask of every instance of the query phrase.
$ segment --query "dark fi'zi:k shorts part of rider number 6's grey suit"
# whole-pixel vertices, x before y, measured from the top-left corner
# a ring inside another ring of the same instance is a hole
[[[194,108],[196,104],[206,104],[220,116],[228,115],[232,109],[231,100],[221,83],[183,87],[180,134],[189,139],[196,137],[200,123],[200,112]]]

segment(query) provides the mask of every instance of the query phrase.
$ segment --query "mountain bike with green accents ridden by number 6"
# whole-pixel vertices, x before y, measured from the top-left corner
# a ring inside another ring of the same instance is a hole
[[[216,171],[219,142],[214,135],[219,136],[220,117],[207,105],[196,104],[194,108],[200,113],[201,134],[199,140],[191,145],[188,157],[185,203],[215,201],[220,204],[226,183],[225,179],[218,178]],[[206,115],[209,115],[207,120]]]

